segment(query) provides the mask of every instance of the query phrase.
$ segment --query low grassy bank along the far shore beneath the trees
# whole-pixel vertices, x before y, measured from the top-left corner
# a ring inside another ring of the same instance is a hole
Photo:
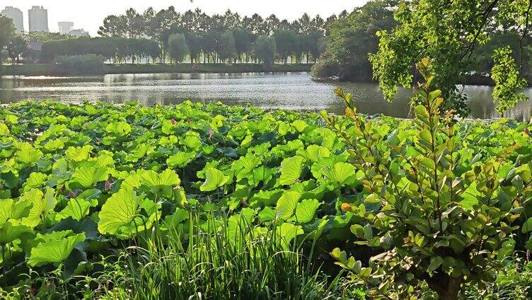
[[[145,73],[248,73],[248,72],[301,72],[310,71],[312,64],[105,64],[103,74]],[[4,66],[5,76],[67,76],[94,75],[80,70],[72,73],[53,64],[21,64]]]

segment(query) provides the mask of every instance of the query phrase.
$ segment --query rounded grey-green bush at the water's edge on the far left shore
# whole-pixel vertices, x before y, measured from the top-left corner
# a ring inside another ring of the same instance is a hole
[[[105,57],[96,54],[59,56],[54,59],[58,71],[67,74],[101,74]]]

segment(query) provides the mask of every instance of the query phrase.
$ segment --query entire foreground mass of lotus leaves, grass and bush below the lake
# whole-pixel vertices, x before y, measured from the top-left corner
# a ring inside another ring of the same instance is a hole
[[[4,106],[4,298],[529,298],[531,125],[456,122],[418,68],[414,120]]]

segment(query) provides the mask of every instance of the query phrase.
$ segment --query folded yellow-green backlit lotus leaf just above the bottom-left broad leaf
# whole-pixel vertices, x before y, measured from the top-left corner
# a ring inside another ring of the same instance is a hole
[[[55,191],[52,188],[47,188],[45,194],[40,190],[29,190],[21,196],[20,200],[33,204],[28,217],[22,219],[23,224],[32,228],[40,224],[45,214],[54,212],[55,204],[57,204]]]

